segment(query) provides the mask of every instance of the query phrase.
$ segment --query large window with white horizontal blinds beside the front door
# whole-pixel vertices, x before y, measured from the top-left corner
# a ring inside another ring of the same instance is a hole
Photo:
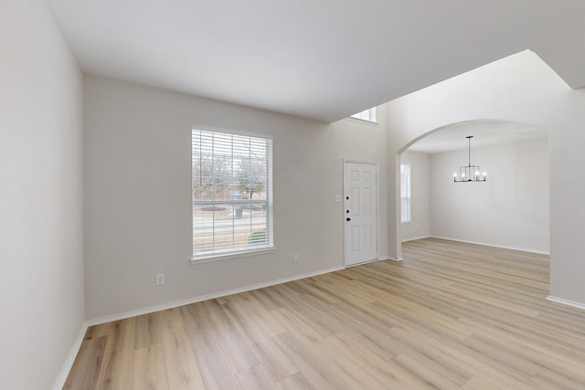
[[[193,258],[272,248],[272,140],[192,132]]]

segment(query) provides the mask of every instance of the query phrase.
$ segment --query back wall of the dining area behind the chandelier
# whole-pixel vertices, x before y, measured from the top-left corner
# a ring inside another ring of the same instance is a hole
[[[431,236],[548,253],[548,139],[472,153],[486,182],[453,183],[467,150],[431,154]]]

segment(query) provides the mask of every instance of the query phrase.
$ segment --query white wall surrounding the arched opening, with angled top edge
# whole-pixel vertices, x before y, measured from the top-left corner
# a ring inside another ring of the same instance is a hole
[[[585,91],[571,90],[536,54],[522,52],[388,102],[388,182],[410,143],[452,123],[516,121],[548,129],[550,180],[550,294],[585,304]],[[579,169],[579,168],[578,168]],[[390,185],[391,187],[391,185]],[[399,257],[397,194],[388,194],[390,255]]]

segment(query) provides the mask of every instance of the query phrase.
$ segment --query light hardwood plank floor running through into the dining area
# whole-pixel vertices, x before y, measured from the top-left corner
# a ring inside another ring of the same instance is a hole
[[[71,389],[583,389],[585,311],[548,257],[439,239],[91,327]]]

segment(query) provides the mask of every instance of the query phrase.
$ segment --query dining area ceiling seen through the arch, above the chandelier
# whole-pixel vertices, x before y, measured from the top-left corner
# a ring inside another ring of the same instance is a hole
[[[520,142],[548,137],[542,127],[510,121],[465,121],[442,127],[414,142],[410,152],[443,153],[468,148],[467,136],[473,136],[471,146],[481,148],[502,143]]]

